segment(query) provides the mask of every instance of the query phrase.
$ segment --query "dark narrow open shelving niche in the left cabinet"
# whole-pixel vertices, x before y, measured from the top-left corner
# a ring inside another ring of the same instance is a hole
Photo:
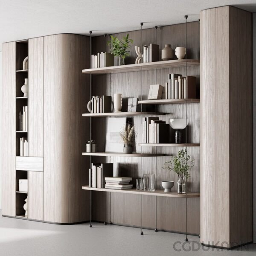
[[[23,70],[23,60],[28,56],[28,40],[16,42],[16,156],[20,155],[20,138],[27,137],[28,131],[19,131],[19,111],[22,111],[23,106],[28,106],[28,97],[24,97],[21,87],[24,84],[24,79],[28,78],[28,69]],[[16,157],[15,157],[16,159]],[[19,218],[28,218],[25,216],[23,206],[28,192],[20,192],[19,179],[28,179],[27,171],[15,171],[15,216]]]

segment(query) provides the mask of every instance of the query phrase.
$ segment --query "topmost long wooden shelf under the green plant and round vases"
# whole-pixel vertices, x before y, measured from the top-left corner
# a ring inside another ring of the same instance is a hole
[[[109,74],[109,73],[122,73],[131,71],[152,70],[159,68],[171,68],[171,67],[185,67],[199,65],[199,60],[172,60],[172,61],[156,61],[149,63],[129,64],[113,67],[99,67],[82,70],[84,74]]]

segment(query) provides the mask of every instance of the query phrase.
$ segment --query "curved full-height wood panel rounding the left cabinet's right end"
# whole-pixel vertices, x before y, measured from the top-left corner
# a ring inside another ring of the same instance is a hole
[[[44,221],[61,223],[89,218],[85,151],[89,101],[89,40],[80,35],[44,37]]]

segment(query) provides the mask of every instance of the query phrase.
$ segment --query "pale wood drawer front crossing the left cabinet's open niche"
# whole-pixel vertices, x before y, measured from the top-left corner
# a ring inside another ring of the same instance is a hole
[[[16,157],[16,170],[44,171],[44,157]]]

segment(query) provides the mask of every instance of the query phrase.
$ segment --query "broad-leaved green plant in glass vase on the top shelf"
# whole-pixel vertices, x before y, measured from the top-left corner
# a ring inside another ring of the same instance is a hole
[[[118,57],[118,65],[124,65],[125,64],[125,57],[129,56],[128,49],[131,48],[130,43],[133,44],[133,40],[129,39],[129,34],[124,36],[121,40],[119,40],[116,36],[113,37],[113,35],[110,36],[111,40],[108,41],[108,45],[111,44],[111,53],[114,55],[114,57]]]

